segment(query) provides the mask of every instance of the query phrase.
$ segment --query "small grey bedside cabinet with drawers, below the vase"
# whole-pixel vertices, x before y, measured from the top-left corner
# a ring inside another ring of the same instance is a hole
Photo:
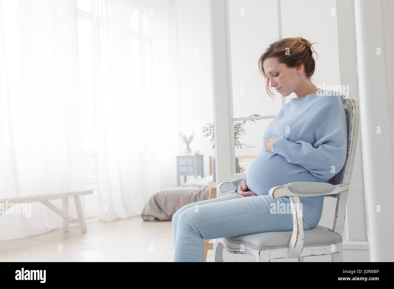
[[[179,177],[183,176],[183,182],[186,182],[186,176],[198,175],[204,177],[204,155],[177,156],[177,186],[179,186]]]

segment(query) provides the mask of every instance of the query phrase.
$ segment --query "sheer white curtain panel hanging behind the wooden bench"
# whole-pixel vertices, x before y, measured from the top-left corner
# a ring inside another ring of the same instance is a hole
[[[75,1],[0,3],[0,199],[84,190]],[[34,202],[1,216],[0,239],[61,224]]]

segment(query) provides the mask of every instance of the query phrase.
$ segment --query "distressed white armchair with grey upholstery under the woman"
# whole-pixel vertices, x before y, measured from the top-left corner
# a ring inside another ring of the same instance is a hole
[[[359,106],[353,99],[342,97],[346,123],[348,125],[348,154],[343,168],[329,183],[290,182],[269,190],[273,199],[290,197],[293,208],[293,232],[265,232],[236,237],[225,237],[214,241],[214,262],[223,262],[223,248],[230,253],[248,254],[256,262],[280,258],[294,258],[303,262],[304,257],[331,255],[332,262],[342,262],[342,234],[345,222],[346,199],[350,186],[351,173],[357,145],[359,127]],[[221,192],[235,191],[241,180],[222,182],[217,186]],[[324,195],[336,198],[333,228],[318,225],[304,232],[302,210],[299,197]]]

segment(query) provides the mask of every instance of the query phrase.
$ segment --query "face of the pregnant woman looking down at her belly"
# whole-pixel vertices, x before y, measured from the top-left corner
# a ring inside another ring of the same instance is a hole
[[[284,63],[278,63],[276,57],[266,58],[263,62],[264,73],[269,79],[269,86],[273,87],[281,96],[288,96],[294,92],[299,82],[300,68],[289,68]],[[279,89],[279,90],[278,90]]]

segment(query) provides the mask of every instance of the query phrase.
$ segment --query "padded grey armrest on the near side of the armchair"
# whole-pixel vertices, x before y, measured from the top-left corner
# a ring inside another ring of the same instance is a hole
[[[269,190],[269,197],[314,197],[335,195],[349,190],[350,183],[333,185],[325,182],[289,182],[283,186],[276,186]]]

